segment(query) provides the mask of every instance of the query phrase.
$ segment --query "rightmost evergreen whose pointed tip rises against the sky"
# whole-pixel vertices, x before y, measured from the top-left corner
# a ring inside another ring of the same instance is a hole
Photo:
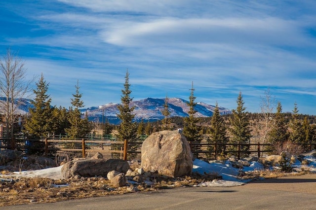
[[[292,118],[289,122],[290,135],[289,139],[294,143],[303,143],[304,131],[302,129],[302,120],[299,118],[297,104],[294,103]]]

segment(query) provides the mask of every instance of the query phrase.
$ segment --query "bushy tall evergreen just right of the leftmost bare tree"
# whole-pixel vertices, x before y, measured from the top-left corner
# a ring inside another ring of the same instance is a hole
[[[29,108],[30,117],[26,120],[25,131],[33,138],[47,137],[52,132],[52,108],[50,106],[51,98],[47,95],[48,83],[44,80],[43,74],[36,83],[37,88],[33,90],[36,97]]]

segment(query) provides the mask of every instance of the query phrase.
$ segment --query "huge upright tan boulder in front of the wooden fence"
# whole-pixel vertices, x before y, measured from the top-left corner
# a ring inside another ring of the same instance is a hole
[[[187,139],[179,131],[159,131],[142,144],[141,168],[146,172],[179,177],[191,175],[193,154]]]

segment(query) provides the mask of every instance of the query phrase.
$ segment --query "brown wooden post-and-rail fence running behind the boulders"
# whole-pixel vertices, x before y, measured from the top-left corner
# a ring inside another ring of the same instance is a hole
[[[14,145],[12,145],[14,143]],[[213,156],[221,154],[234,154],[240,159],[241,155],[252,155],[260,157],[272,150],[266,149],[271,146],[268,143],[201,143],[190,141],[190,146],[193,154],[196,156]],[[307,144],[310,150],[316,148],[316,143]],[[128,147],[136,147],[136,150],[130,150]],[[71,157],[88,157],[100,152],[106,157],[113,157],[114,154],[119,154],[120,158],[126,160],[127,154],[140,154],[142,141],[130,142],[116,140],[64,140],[64,139],[16,139],[12,140],[0,139],[0,149],[18,149],[25,153],[37,153],[49,156],[50,154],[65,153]],[[231,148],[231,149],[229,149]],[[235,149],[232,149],[235,148]],[[247,148],[247,149],[245,149]]]

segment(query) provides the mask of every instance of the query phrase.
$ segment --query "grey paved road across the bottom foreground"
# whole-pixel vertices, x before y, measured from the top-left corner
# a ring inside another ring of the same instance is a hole
[[[2,209],[2,208],[1,208]],[[236,187],[181,187],[88,198],[10,210],[261,210],[316,209],[316,174],[252,181]]]

